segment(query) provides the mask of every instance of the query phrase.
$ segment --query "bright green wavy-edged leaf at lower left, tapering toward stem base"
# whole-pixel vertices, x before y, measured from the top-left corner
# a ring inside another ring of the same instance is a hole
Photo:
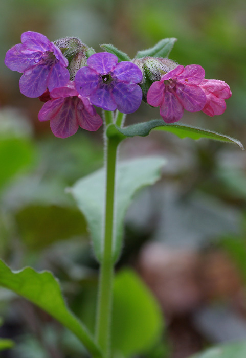
[[[38,273],[31,267],[12,272],[0,260],[0,285],[11,289],[16,294],[48,312],[66,328],[70,329],[91,353],[95,354],[97,358],[102,357],[90,332],[66,306],[59,283],[51,272],[43,271]]]

